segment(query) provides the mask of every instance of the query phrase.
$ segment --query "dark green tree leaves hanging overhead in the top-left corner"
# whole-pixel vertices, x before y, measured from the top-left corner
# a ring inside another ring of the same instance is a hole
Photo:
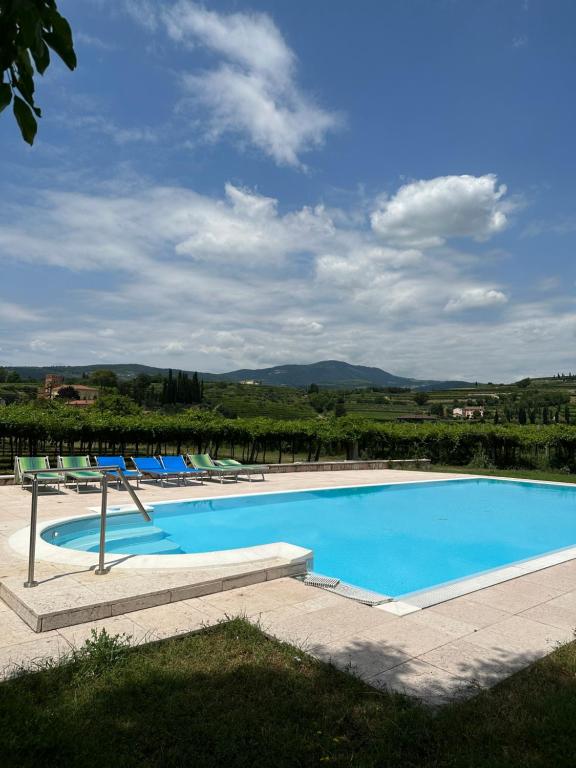
[[[42,115],[34,102],[34,76],[50,65],[50,48],[68,69],[76,68],[72,30],[55,0],[0,0],[0,112],[13,101],[28,144]]]

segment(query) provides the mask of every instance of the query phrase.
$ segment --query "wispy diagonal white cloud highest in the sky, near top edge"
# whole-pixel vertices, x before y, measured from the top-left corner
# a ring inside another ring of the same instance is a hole
[[[299,88],[296,56],[267,14],[219,14],[180,0],[161,19],[176,42],[222,59],[213,69],[182,76],[193,106],[208,113],[210,139],[234,134],[279,165],[303,167],[301,155],[322,146],[340,124]]]

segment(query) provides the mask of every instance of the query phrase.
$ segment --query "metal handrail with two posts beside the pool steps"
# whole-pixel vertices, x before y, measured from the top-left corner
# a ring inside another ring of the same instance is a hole
[[[144,520],[149,523],[151,522],[152,518],[146,511],[146,508],[136,495],[136,491],[130,483],[128,482],[128,479],[126,475],[124,474],[122,467],[118,466],[117,464],[111,464],[110,466],[102,467],[78,467],[78,471],[89,471],[89,472],[99,472],[102,475],[102,505],[100,509],[100,545],[99,545],[99,552],[98,552],[98,568],[94,571],[96,576],[103,576],[106,573],[109,573],[110,569],[106,568],[104,560],[106,556],[106,511],[107,511],[107,502],[108,502],[108,474],[110,472],[116,472],[118,474],[118,477],[120,478],[122,485],[128,493],[130,494],[130,497],[132,498],[132,501],[136,505],[136,508],[144,518]],[[37,475],[41,475],[46,472],[52,472],[54,474],[58,475],[66,475],[67,472],[73,472],[74,469],[69,470],[63,470],[60,467],[57,469],[49,469],[48,467],[44,467],[43,469],[28,469],[24,472],[22,472],[22,478],[32,476],[32,507],[30,510],[30,546],[28,550],[28,580],[24,582],[25,587],[37,587],[38,582],[34,579],[34,566],[35,566],[35,559],[36,559],[36,529],[38,527],[38,477]]]

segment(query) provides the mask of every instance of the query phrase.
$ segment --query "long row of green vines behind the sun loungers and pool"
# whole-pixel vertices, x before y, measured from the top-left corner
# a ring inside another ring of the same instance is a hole
[[[0,461],[16,455],[210,452],[243,461],[429,458],[435,464],[576,471],[576,427],[479,422],[402,424],[355,416],[228,419],[190,409],[116,416],[57,403],[0,408]]]

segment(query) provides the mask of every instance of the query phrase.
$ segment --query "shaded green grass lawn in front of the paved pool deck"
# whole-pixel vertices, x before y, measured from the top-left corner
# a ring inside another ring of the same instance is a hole
[[[0,684],[0,764],[558,768],[575,720],[574,644],[431,711],[235,619]]]

